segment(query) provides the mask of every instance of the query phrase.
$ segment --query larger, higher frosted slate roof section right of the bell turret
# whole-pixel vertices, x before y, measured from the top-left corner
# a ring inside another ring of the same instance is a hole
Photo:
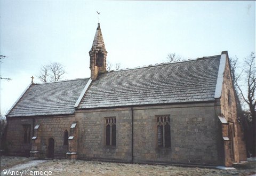
[[[101,74],[78,109],[213,101],[220,57]]]

